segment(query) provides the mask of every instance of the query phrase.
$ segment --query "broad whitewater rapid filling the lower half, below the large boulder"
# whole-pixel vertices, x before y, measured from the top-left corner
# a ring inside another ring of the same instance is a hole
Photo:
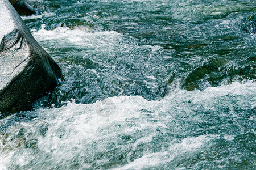
[[[234,155],[241,151],[233,144],[241,135],[255,135],[255,91],[255,82],[234,82],[204,91],[177,90],[160,101],[115,96],[94,104],[71,102],[14,114],[0,120],[6,131],[0,134],[0,167],[184,168],[180,159],[185,163],[206,152],[225,152],[216,164],[234,156],[240,159],[250,153]],[[22,120],[22,115],[27,118]],[[220,143],[227,143],[230,150],[214,147]],[[212,167],[195,161],[192,168]]]

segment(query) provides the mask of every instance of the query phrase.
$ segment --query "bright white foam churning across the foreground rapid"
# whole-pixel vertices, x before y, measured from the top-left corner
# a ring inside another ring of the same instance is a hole
[[[72,166],[72,163],[77,162],[80,167],[92,168],[95,164],[108,164],[110,158],[122,152],[126,153],[127,164],[117,169],[142,169],[168,164],[179,156],[210,149],[210,144],[220,136],[227,141],[234,139],[229,134],[190,137],[193,134],[184,130],[189,130],[187,126],[193,128],[192,122],[181,125],[180,118],[188,115],[188,121],[192,117],[190,121],[206,123],[203,117],[194,115],[193,111],[216,111],[219,107],[226,107],[226,103],[223,103],[226,95],[236,96],[237,103],[250,103],[247,106],[240,104],[240,107],[251,107],[256,105],[255,91],[256,82],[234,82],[204,91],[178,90],[160,101],[147,101],[141,96],[115,96],[94,104],[68,103],[61,108],[39,109],[33,112],[38,118],[9,126],[9,138],[5,143],[0,138],[3,146],[0,148],[0,160],[3,160],[0,164],[2,167],[14,167],[43,161],[47,162],[49,168],[54,168],[56,164]],[[222,103],[216,103],[219,99]],[[229,114],[234,113],[230,111]],[[40,125],[48,127],[44,137],[38,132]],[[16,135],[22,128],[25,131],[23,138],[26,139],[17,148],[20,139]],[[158,144],[154,144],[155,138],[164,138],[167,133],[187,137],[181,141],[170,138],[166,143],[158,141]],[[126,141],[122,139],[124,136],[127,137]],[[35,148],[25,147],[24,143],[30,140],[37,141]],[[153,152],[151,145],[160,145],[162,148]],[[142,155],[131,161],[134,152]]]

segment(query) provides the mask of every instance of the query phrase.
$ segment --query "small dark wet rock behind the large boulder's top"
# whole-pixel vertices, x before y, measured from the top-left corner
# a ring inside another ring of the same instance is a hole
[[[38,15],[43,12],[42,8],[38,6],[36,1],[28,0],[9,0],[11,5],[19,15]]]

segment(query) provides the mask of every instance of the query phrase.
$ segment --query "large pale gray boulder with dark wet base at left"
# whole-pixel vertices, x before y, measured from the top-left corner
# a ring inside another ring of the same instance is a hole
[[[55,88],[61,70],[11,3],[0,0],[0,6],[0,116],[6,116]]]

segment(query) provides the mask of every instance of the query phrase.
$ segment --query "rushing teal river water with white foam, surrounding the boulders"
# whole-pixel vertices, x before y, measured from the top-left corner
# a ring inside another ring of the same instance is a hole
[[[0,169],[255,169],[254,0],[43,1],[63,77],[0,120]]]

